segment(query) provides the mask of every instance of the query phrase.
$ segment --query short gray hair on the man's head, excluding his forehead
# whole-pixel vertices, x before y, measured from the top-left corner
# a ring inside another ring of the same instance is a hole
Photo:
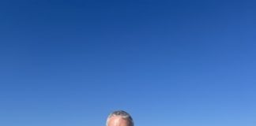
[[[109,114],[109,116],[107,117],[106,126],[108,124],[109,119],[111,117],[116,117],[116,116],[119,116],[119,117],[122,117],[125,120],[128,120],[130,122],[130,126],[134,126],[133,118],[130,116],[129,113],[126,113],[126,111],[123,111],[123,110],[118,110],[118,111],[115,111],[115,112]]]

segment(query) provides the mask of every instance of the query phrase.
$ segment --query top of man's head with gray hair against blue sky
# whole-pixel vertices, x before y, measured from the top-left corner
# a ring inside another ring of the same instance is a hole
[[[134,126],[134,120],[129,113],[118,110],[109,114],[106,126]]]

